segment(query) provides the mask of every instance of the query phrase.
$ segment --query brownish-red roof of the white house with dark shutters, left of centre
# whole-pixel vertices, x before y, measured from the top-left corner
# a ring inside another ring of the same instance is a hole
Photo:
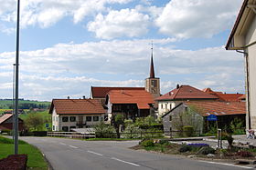
[[[53,108],[57,114],[104,114],[105,110],[98,99],[53,99],[49,114]]]

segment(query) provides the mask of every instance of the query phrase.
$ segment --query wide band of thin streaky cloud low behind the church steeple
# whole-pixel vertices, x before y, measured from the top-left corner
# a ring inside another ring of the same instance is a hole
[[[223,46],[197,51],[172,49],[175,39],[155,39],[155,75],[162,93],[176,84],[243,92],[243,57]],[[151,40],[59,44],[20,53],[20,95],[50,100],[90,95],[93,86],[143,86]],[[164,47],[165,46],[165,47]],[[15,53],[0,54],[1,98],[11,97]],[[94,78],[92,78],[94,77]],[[101,77],[101,78],[99,78]]]

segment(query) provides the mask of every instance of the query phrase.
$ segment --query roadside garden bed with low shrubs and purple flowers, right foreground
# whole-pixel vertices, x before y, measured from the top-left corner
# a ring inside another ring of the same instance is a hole
[[[213,149],[208,144],[176,144],[167,140],[147,139],[139,145],[131,147],[135,150],[145,150],[167,155],[185,155],[191,158],[204,158],[210,160],[229,160],[235,162],[238,159],[255,160],[256,149]]]

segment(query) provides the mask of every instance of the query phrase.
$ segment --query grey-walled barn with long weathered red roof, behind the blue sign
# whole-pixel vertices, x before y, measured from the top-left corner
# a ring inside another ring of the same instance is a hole
[[[192,125],[200,133],[207,130],[208,115],[217,116],[219,128],[224,128],[236,118],[243,121],[245,125],[246,109],[244,102],[189,101],[176,105],[162,116],[165,132],[177,130],[176,123],[180,122],[180,115],[184,112],[192,114],[188,118],[189,121],[183,119],[184,122],[181,125]]]

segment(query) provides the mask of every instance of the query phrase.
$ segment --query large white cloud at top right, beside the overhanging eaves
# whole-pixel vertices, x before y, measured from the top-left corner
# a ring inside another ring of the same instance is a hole
[[[240,5],[240,0],[172,0],[155,24],[165,35],[211,37],[230,29]]]

